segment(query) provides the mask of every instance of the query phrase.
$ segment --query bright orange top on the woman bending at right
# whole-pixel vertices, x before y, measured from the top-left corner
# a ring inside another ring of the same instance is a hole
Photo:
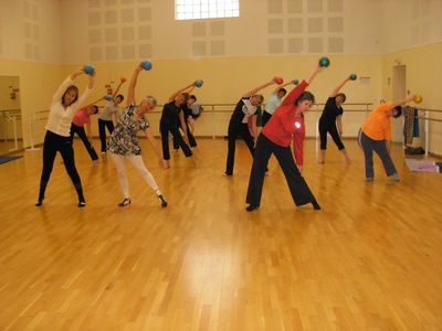
[[[391,103],[376,107],[366,122],[362,125],[362,132],[372,140],[391,140],[391,121],[387,116]]]

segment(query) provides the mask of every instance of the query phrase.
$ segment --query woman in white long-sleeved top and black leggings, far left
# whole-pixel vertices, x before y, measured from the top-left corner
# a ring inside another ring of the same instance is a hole
[[[56,152],[61,153],[67,174],[75,186],[78,195],[78,206],[83,207],[86,205],[82,182],[75,168],[74,150],[72,148],[72,139],[70,135],[71,121],[75,111],[84,105],[87,96],[94,87],[94,75],[90,75],[88,86],[78,98],[78,88],[73,85],[73,81],[84,73],[84,70],[78,70],[70,75],[62,85],[60,85],[52,98],[52,105],[45,127],[46,136],[44,137],[43,145],[43,170],[40,180],[39,200],[35,203],[36,206],[41,206],[43,203],[44,192],[51,177]]]

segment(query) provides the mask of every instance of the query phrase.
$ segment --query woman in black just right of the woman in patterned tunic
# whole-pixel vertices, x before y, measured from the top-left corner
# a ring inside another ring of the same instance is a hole
[[[186,158],[190,158],[192,164],[196,166],[192,158],[192,151],[190,150],[190,147],[188,145],[188,130],[185,122],[185,115],[181,108],[182,105],[187,103],[187,99],[189,97],[187,90],[191,90],[193,86],[194,85],[192,83],[177,90],[170,96],[168,103],[162,107],[161,119],[159,121],[159,130],[161,132],[162,159],[165,160],[166,168],[170,168],[169,132],[173,136],[173,139],[177,140],[178,146],[185,152]],[[181,125],[185,138],[182,138],[181,134],[179,132],[179,125]]]

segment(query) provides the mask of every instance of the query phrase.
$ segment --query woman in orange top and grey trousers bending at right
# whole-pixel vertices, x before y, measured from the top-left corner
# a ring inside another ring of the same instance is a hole
[[[413,99],[411,96],[406,99],[385,103],[370,113],[366,122],[359,130],[359,145],[364,150],[366,163],[366,180],[372,181],[375,177],[372,152],[375,151],[382,161],[387,177],[399,181],[398,171],[390,158],[391,148],[391,116],[398,118],[402,114],[401,105]]]

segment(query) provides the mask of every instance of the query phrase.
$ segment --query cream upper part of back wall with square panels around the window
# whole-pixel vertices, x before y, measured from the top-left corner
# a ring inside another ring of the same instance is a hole
[[[63,1],[62,34],[70,40],[63,62],[381,52],[381,24],[377,23],[382,19],[379,0],[292,3],[301,4],[298,12],[291,12],[285,0],[241,0],[240,18],[176,21],[175,1],[169,0]],[[127,17],[133,19],[127,21]],[[334,24],[334,19],[340,23]],[[291,20],[299,21],[299,30],[290,29]],[[312,24],[312,20],[316,21]],[[139,32],[143,28],[148,30],[145,35]],[[295,39],[302,42],[299,50],[290,46]],[[341,49],[336,50],[339,41],[335,39],[343,41]],[[272,42],[281,43],[281,51]],[[315,42],[319,45],[311,46]],[[196,44],[206,51],[196,52]],[[214,44],[222,46],[218,50]],[[151,46],[151,52],[140,50],[143,45]]]

